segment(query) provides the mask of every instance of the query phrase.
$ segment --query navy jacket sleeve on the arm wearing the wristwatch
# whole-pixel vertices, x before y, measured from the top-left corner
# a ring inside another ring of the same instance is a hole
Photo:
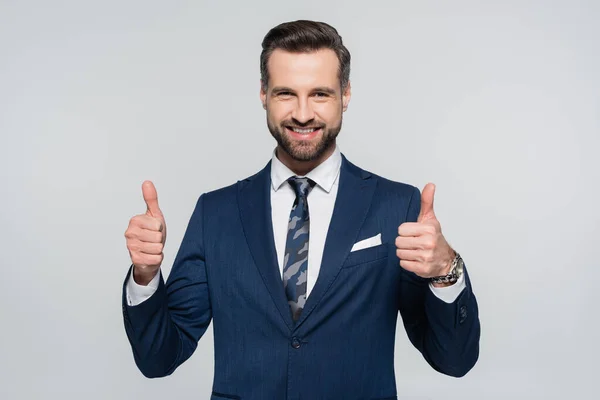
[[[407,222],[417,220],[420,207],[421,193],[414,188]],[[412,272],[402,269],[400,283],[399,310],[411,343],[436,371],[454,377],[467,374],[479,357],[479,311],[466,267],[464,276],[466,287],[452,303]]]

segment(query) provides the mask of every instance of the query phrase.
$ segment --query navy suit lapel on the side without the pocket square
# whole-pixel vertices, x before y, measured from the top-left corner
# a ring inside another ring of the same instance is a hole
[[[265,286],[288,329],[290,306],[279,272],[271,218],[271,162],[258,174],[238,183],[238,204],[246,241]]]

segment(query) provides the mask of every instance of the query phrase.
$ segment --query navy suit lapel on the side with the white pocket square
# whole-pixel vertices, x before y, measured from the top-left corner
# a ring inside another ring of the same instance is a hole
[[[306,320],[319,303],[350,254],[369,211],[376,183],[375,177],[354,166],[342,155],[340,184],[327,232],[319,276],[306,300],[300,319],[296,322],[295,329]]]

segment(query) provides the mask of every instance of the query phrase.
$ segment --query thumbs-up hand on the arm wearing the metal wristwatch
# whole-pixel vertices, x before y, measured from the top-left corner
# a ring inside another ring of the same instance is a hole
[[[423,278],[448,274],[456,256],[442,235],[442,228],[433,212],[434,194],[435,185],[428,183],[421,194],[421,211],[417,222],[400,225],[396,238],[396,255],[400,258],[400,266]]]

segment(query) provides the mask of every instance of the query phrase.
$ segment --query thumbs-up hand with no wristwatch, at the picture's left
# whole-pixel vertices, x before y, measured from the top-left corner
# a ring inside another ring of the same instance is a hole
[[[167,240],[167,225],[158,207],[158,195],[151,181],[142,184],[142,194],[146,202],[146,213],[129,220],[125,231],[127,250],[133,263],[133,279],[140,285],[147,285],[156,275],[162,263],[163,248]]]

